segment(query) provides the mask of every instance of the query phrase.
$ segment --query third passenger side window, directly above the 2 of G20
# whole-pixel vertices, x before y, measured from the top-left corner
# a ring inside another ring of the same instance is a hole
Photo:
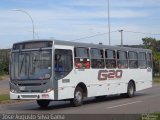
[[[114,50],[105,51],[106,68],[116,68],[116,52]]]

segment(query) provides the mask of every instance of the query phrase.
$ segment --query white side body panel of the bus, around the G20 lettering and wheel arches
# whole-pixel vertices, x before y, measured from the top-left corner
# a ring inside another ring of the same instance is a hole
[[[70,46],[55,46],[55,49],[70,49]],[[87,87],[87,97],[127,93],[130,80],[135,82],[136,91],[152,87],[152,71],[148,69],[121,69],[123,71],[121,79],[98,80],[100,69],[75,69],[73,58],[73,70],[65,78],[58,80],[58,100],[74,97],[74,91],[79,83],[84,83]],[[101,69],[119,70],[119,69]],[[68,83],[63,83],[64,79],[69,79]]]

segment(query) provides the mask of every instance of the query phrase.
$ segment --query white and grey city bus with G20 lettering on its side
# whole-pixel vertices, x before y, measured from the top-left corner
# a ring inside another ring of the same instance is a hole
[[[50,101],[113,94],[133,97],[152,87],[152,52],[148,49],[58,40],[13,44],[10,98],[34,99],[40,107]]]

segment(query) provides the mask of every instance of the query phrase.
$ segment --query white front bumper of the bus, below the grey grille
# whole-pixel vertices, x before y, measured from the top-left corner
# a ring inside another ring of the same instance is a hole
[[[12,100],[54,100],[54,91],[47,93],[12,93],[10,92],[10,99]]]

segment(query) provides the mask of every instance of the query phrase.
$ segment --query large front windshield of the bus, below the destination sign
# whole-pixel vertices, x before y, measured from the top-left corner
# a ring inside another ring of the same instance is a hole
[[[51,50],[12,53],[11,79],[49,79],[52,70]]]

